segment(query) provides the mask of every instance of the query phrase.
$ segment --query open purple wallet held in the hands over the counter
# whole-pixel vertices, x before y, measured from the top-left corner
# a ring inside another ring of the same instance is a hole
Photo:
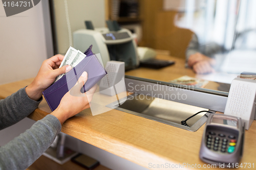
[[[86,58],[67,72],[65,76],[42,92],[52,111],[58,107],[62,97],[76,84],[83,71],[88,73],[88,80],[81,88],[81,92],[90,90],[107,74],[97,56],[93,54],[92,45],[84,54],[87,56]]]

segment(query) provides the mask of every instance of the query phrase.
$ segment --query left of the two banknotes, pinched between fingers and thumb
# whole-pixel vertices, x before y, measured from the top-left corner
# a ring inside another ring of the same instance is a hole
[[[75,58],[77,54],[77,50],[75,48],[73,48],[72,46],[69,47],[69,50],[67,51],[65,57],[63,58],[60,66],[65,66],[65,65],[70,65],[73,61],[73,59]],[[53,83],[55,83],[56,81],[58,81],[59,79],[61,79],[65,74],[59,75],[58,77],[56,77],[55,81]]]

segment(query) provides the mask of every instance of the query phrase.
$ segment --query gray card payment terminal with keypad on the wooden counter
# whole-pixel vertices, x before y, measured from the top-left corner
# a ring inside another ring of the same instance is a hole
[[[239,117],[210,114],[203,133],[200,159],[225,167],[239,163],[243,153],[244,127]]]

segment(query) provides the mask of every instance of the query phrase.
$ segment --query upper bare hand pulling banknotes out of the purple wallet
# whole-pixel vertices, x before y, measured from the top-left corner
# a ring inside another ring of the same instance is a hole
[[[64,56],[58,54],[42,63],[36,78],[26,87],[26,92],[30,99],[38,101],[42,96],[42,91],[54,82],[56,76],[72,69],[69,65],[59,67],[63,58]]]

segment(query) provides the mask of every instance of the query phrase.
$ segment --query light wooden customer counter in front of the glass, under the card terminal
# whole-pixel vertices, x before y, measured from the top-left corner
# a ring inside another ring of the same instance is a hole
[[[182,75],[191,76],[186,71],[189,72],[186,69],[185,73],[172,72],[168,80]],[[152,78],[161,77],[160,74],[153,75],[153,72],[148,72],[148,75]],[[136,70],[132,70],[130,73],[136,75]],[[31,83],[32,80],[1,85],[0,98],[6,98]],[[29,115],[29,118],[39,120],[49,113],[51,113],[51,110],[47,102],[43,100],[38,109]],[[149,168],[151,164],[165,163],[200,164],[203,167],[205,163],[199,158],[203,130],[204,126],[197,132],[189,132],[118,110],[92,116],[90,109],[86,109],[68,119],[63,124],[61,132]],[[240,163],[254,163],[256,166],[255,139],[256,123],[254,121],[250,130],[245,132],[244,156]],[[184,166],[184,169],[186,169],[186,166]]]

